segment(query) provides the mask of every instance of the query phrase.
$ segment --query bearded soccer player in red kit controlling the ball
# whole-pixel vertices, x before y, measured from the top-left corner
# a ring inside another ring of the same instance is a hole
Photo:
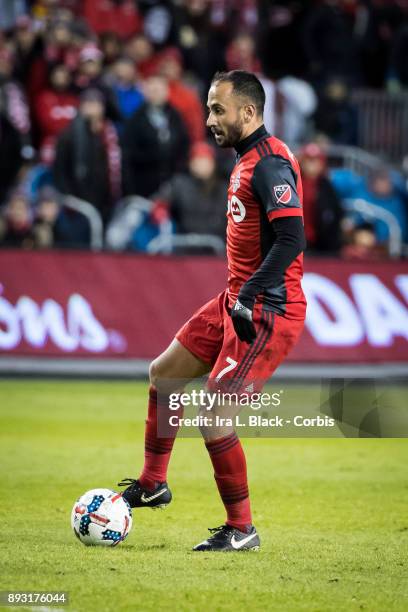
[[[144,467],[137,480],[120,483],[128,485],[123,497],[132,507],[163,507],[172,498],[167,468],[175,434],[159,437],[157,430],[160,410],[168,410],[158,394],[163,381],[168,393],[181,379],[207,373],[209,380],[222,376],[231,384],[266,381],[303,328],[300,170],[288,147],[265,130],[264,103],[254,74],[233,70],[214,76],[207,125],[218,146],[236,151],[228,188],[227,289],[202,306],[151,364]],[[227,518],[193,550],[258,550],[240,440],[222,427],[203,428],[202,434]]]

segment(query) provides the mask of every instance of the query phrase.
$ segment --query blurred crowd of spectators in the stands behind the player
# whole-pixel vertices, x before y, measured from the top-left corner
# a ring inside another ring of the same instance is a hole
[[[386,258],[406,180],[329,167],[327,145],[356,144],[353,89],[408,90],[407,58],[408,0],[0,0],[0,246],[89,248],[89,205],[111,249],[222,242],[234,155],[205,102],[241,68],[299,156],[309,250]]]

